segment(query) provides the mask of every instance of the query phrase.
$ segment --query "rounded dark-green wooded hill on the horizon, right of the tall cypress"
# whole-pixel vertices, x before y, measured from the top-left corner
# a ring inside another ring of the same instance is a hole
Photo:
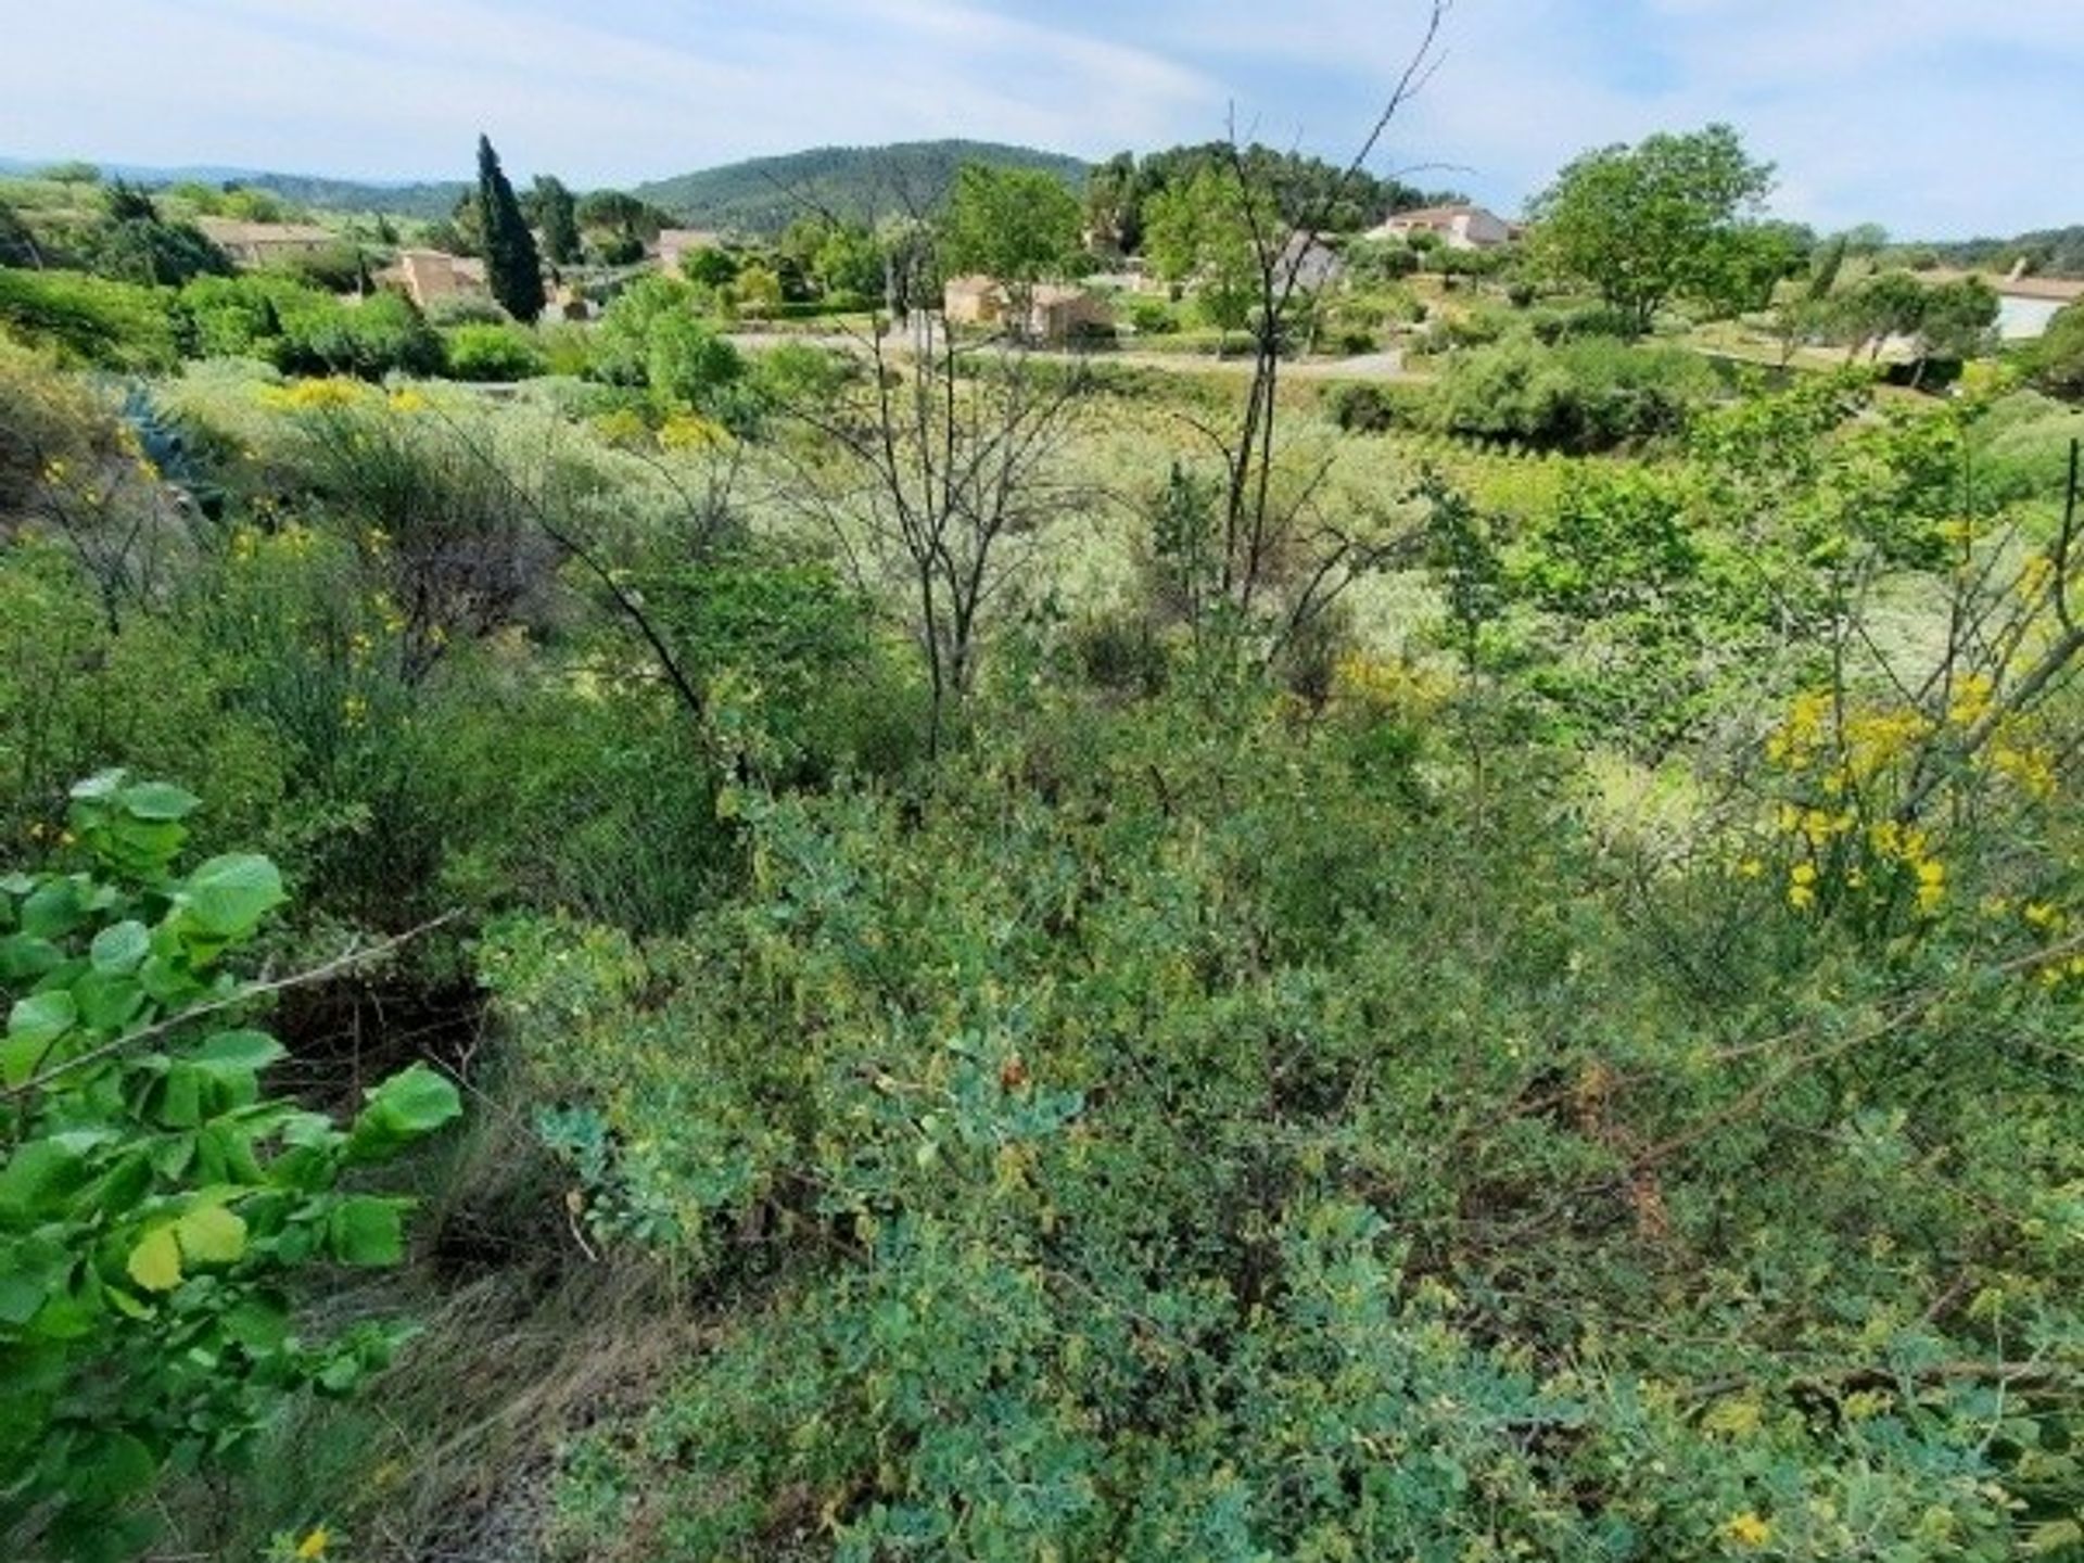
[[[994,169],[1040,169],[1084,190],[1088,165],[1063,152],[1000,142],[892,142],[890,146],[819,146],[809,152],[727,163],[719,169],[654,179],[634,190],[690,227],[775,233],[798,217],[929,213],[946,198],[965,163]]]

